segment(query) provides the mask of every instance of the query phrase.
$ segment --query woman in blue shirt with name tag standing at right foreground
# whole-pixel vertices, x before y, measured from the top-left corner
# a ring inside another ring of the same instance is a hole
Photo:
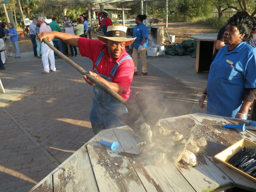
[[[246,119],[256,94],[256,49],[247,44],[254,27],[249,14],[237,12],[226,23],[221,47],[213,60],[199,106],[207,114]]]

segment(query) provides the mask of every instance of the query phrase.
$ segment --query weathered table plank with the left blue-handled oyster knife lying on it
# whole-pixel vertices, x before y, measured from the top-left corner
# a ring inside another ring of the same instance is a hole
[[[87,145],[99,190],[145,191],[130,161],[117,155],[121,149],[111,151],[109,147],[100,145],[98,143],[100,140],[113,142],[118,139],[113,129],[105,130],[98,133],[98,137]]]

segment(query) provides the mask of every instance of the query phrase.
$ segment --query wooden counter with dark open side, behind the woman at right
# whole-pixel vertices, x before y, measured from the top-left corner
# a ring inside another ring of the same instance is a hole
[[[188,37],[197,40],[196,44],[196,72],[209,71],[213,53],[217,42],[217,33],[197,34]]]

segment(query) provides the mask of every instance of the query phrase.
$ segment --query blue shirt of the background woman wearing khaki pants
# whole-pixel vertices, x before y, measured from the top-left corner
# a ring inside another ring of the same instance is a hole
[[[135,49],[139,48],[143,38],[146,38],[146,41],[142,47],[148,48],[148,31],[147,31],[147,27],[144,25],[144,23],[141,23],[140,25],[135,25],[135,27],[133,28],[133,37],[137,37],[134,40],[134,48]]]

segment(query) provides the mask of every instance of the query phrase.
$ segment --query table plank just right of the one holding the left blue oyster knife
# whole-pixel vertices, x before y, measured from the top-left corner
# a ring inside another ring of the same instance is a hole
[[[136,141],[133,138],[133,131],[129,129],[114,129],[114,133],[117,135],[118,140],[126,152],[139,153],[137,143],[140,141]],[[135,162],[132,165],[147,191],[194,191],[171,163],[159,167],[153,165],[149,159],[145,159],[141,163]]]

